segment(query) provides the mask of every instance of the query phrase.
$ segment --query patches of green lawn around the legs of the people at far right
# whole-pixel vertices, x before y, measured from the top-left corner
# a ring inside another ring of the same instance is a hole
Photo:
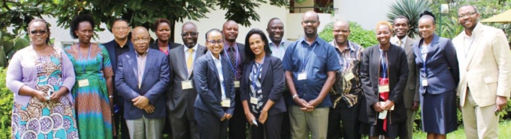
[[[419,131],[413,133],[413,138],[426,138],[426,133]],[[511,120],[502,121],[499,123],[499,138],[510,138],[511,137]],[[447,134],[447,138],[467,138],[463,127],[459,127],[458,130]]]

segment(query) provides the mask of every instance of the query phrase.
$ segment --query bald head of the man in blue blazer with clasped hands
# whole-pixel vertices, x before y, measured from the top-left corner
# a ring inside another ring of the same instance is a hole
[[[135,27],[131,32],[131,42],[133,42],[136,53],[142,55],[149,49],[149,31],[145,27]]]

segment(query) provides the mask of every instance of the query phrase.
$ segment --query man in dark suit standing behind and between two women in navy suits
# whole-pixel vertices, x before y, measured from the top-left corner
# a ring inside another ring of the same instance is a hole
[[[222,28],[224,36],[224,56],[229,61],[229,72],[234,81],[236,91],[236,106],[234,109],[233,119],[229,123],[229,138],[246,138],[245,132],[247,120],[245,112],[240,101],[240,81],[243,75],[243,66],[245,62],[245,45],[236,42],[238,38],[238,24],[234,20],[227,20]]]

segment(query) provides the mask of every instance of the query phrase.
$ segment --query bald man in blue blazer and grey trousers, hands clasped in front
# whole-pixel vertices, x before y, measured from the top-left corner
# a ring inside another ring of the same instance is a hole
[[[167,56],[149,49],[149,32],[133,30],[135,52],[119,56],[115,87],[124,100],[130,138],[161,138],[165,123],[165,89],[169,83]]]

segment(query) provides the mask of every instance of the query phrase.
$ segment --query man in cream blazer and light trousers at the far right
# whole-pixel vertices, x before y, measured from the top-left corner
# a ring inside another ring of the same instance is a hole
[[[498,138],[498,112],[511,91],[511,53],[504,32],[478,18],[474,6],[458,9],[464,31],[452,40],[460,69],[457,95],[467,138]]]

